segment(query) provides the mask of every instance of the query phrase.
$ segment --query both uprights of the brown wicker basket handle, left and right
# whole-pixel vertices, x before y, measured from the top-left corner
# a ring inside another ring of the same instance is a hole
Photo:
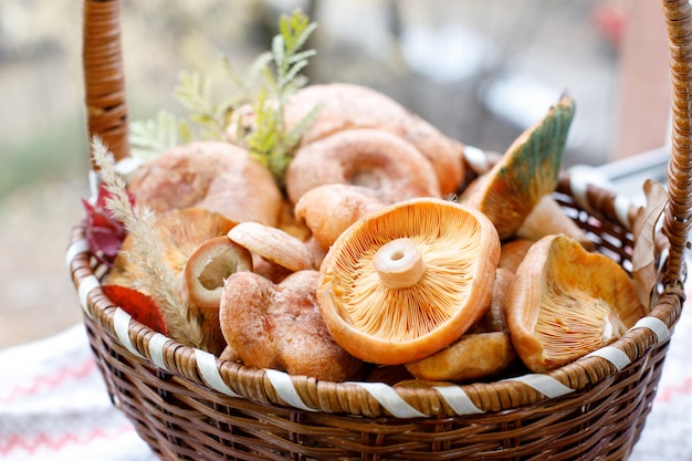
[[[663,221],[671,243],[665,282],[682,284],[692,208],[692,7],[688,0],[662,2],[673,80],[672,155],[668,166],[670,203]],[[129,156],[120,9],[122,0],[84,0],[83,66],[88,136],[91,139],[98,135],[116,160]]]

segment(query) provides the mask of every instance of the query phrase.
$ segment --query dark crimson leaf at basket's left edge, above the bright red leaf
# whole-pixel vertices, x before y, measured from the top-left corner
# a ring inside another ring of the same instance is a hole
[[[113,217],[106,207],[111,193],[103,187],[98,188],[96,203],[82,200],[86,211],[85,237],[88,249],[101,261],[112,265],[125,239],[126,231],[122,222]],[[130,198],[132,201],[132,198]]]

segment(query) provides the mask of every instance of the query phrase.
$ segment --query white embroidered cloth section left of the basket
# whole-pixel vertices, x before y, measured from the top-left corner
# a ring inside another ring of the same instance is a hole
[[[0,459],[154,461],[108,398],[83,325],[0,352]]]

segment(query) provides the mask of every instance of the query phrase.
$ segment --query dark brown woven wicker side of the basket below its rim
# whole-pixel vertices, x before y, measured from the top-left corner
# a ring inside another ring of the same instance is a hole
[[[306,412],[201,390],[85,318],[114,404],[162,460],[622,460],[643,429],[669,342],[593,388],[440,419]]]

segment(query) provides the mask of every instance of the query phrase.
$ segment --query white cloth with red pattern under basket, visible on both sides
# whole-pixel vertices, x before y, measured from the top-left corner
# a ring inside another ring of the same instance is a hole
[[[692,313],[672,336],[653,410],[630,461],[692,460]],[[154,461],[111,404],[82,325],[0,352],[0,459]]]

